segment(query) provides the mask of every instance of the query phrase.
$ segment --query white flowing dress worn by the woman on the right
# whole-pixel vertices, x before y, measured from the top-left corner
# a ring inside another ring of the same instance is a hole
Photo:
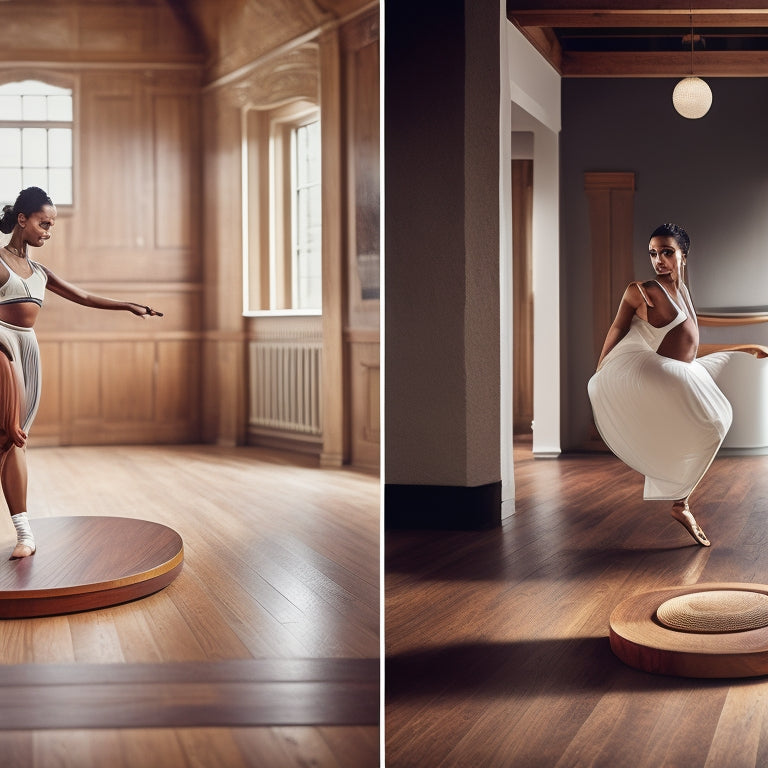
[[[661,328],[633,317],[587,385],[601,437],[645,475],[648,500],[687,498],[709,468],[732,419],[712,374],[739,354],[717,352],[691,363],[659,355],[664,337],[687,317],[667,297],[677,317]]]

